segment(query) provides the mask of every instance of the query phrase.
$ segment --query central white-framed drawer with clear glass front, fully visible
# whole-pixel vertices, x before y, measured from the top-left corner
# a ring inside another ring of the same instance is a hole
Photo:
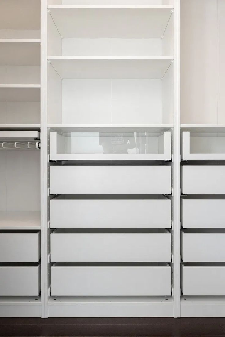
[[[52,160],[170,160],[171,133],[115,128],[50,132]]]

